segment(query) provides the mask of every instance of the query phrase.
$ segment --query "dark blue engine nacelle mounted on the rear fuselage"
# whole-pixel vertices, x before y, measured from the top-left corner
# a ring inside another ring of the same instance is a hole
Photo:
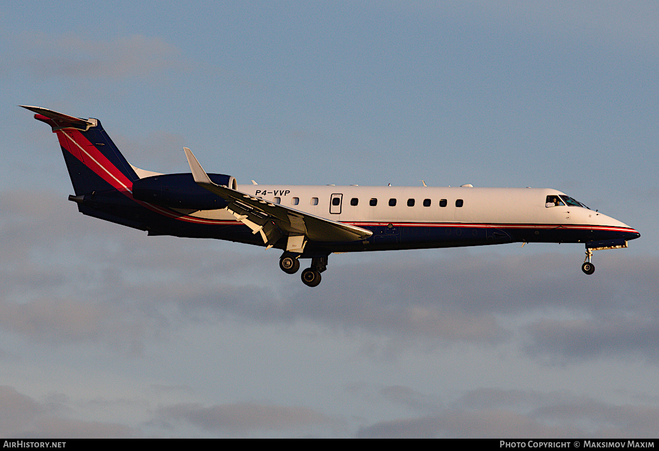
[[[231,175],[208,174],[208,177],[217,185],[238,188],[236,179]],[[136,180],[132,183],[132,196],[136,200],[169,208],[215,210],[227,206],[223,198],[197,185],[191,173],[153,175]]]

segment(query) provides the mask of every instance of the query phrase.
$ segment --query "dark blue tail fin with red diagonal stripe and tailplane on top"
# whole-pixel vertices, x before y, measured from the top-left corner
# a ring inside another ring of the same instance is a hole
[[[139,179],[98,119],[80,119],[49,109],[20,105],[36,113],[34,119],[50,125],[57,134],[77,195],[94,191],[132,191]]]

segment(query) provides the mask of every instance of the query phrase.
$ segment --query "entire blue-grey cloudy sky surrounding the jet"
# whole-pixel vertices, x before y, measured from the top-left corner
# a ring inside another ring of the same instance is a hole
[[[656,437],[655,2],[0,5],[0,436]],[[78,213],[36,105],[239,183],[552,187],[629,248],[329,257]]]

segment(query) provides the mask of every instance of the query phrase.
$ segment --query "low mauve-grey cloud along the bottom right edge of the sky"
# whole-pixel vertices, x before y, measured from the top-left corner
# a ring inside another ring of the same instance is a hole
[[[364,438],[652,437],[659,409],[614,405],[565,392],[479,388],[428,415],[380,421]]]

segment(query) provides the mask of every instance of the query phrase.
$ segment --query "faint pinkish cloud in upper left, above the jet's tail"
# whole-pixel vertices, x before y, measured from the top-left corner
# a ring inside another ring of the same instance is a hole
[[[146,77],[185,67],[181,51],[161,38],[135,34],[113,40],[75,35],[30,35],[21,40],[16,65],[40,78]]]

